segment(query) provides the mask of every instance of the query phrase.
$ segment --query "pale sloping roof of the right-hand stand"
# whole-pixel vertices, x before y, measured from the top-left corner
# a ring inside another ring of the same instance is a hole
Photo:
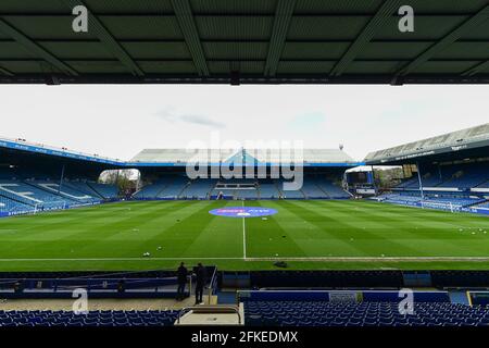
[[[371,152],[364,161],[367,164],[401,164],[436,156],[443,158],[443,154],[450,154],[451,158],[463,157],[469,152],[480,152],[480,156],[488,157],[488,148],[489,123],[486,123],[476,127]]]

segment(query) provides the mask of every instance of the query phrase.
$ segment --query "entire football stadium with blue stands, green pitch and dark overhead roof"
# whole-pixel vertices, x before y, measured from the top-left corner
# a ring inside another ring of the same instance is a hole
[[[487,92],[487,0],[411,1],[418,22],[408,38],[398,33],[403,5],[2,1],[0,84]],[[228,109],[233,119],[239,105]],[[83,122],[68,117],[59,133]],[[488,326],[489,123],[414,130],[414,141],[383,148],[353,120],[344,134],[376,148],[362,158],[342,145],[268,144],[135,147],[122,160],[0,134],[0,331]],[[99,128],[87,142],[111,132]]]

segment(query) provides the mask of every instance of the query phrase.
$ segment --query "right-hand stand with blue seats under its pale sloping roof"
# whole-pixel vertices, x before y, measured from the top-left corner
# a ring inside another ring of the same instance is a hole
[[[368,153],[366,164],[402,165],[406,178],[379,201],[487,214],[489,124]]]

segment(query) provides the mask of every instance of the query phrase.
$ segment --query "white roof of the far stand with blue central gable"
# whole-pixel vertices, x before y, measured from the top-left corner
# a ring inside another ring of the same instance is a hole
[[[301,157],[301,158],[299,158]],[[284,162],[304,165],[355,166],[354,161],[344,151],[339,149],[303,149],[302,153],[279,149],[146,149],[139,152],[129,162],[137,165],[151,165],[154,163],[173,163],[185,165],[188,162],[234,163],[234,164],[278,164]]]

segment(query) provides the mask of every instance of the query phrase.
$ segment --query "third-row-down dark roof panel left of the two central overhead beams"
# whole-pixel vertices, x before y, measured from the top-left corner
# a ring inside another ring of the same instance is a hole
[[[121,42],[122,47],[134,59],[188,59],[190,52],[185,41],[180,42]]]

